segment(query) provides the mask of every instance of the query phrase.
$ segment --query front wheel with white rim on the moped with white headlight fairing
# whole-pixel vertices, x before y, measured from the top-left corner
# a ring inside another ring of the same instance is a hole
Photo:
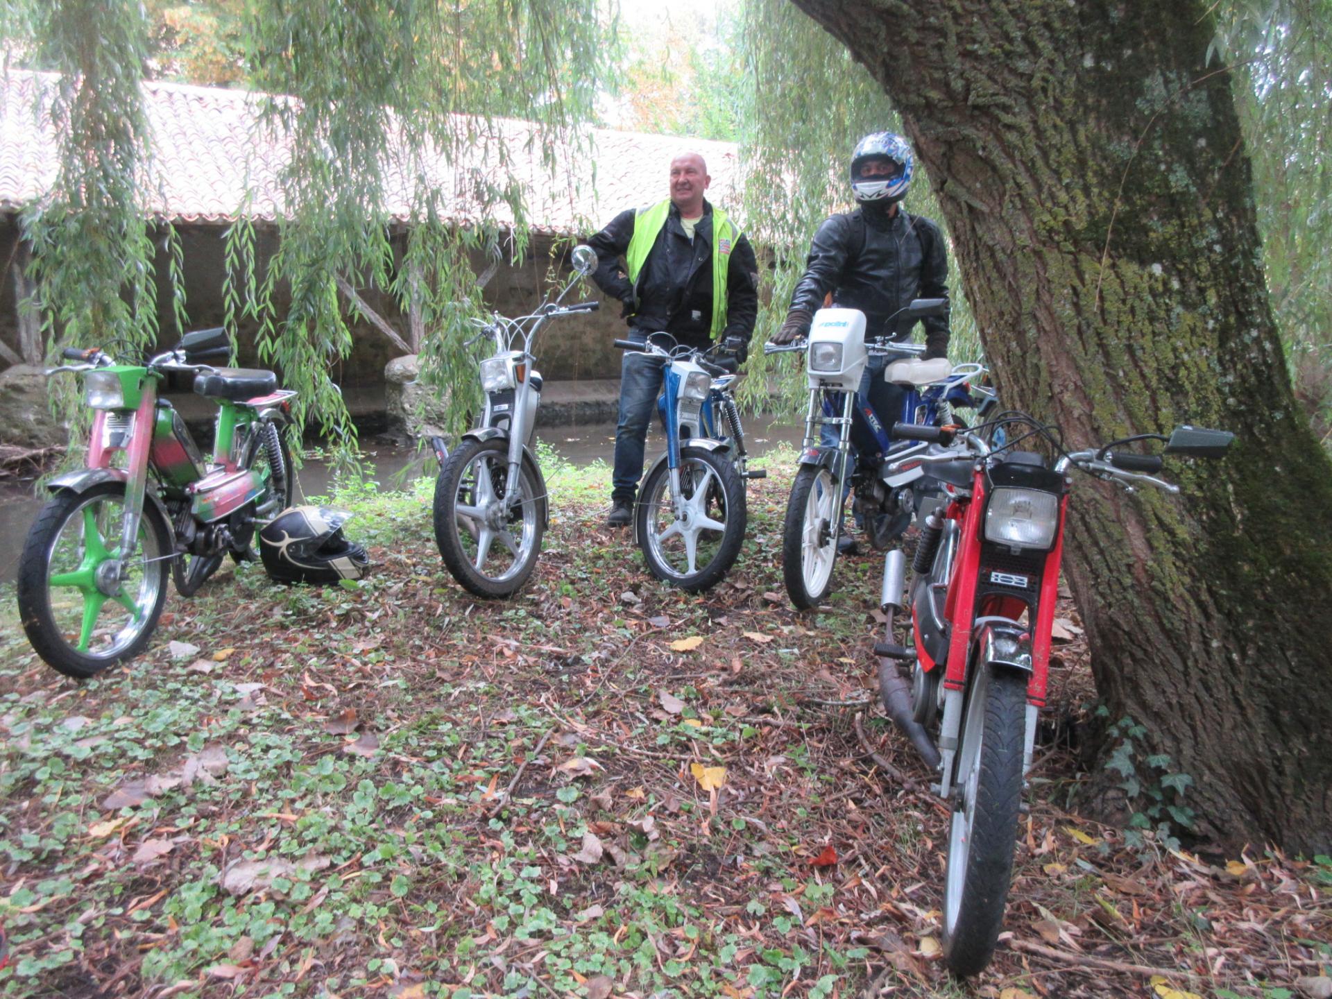
[[[826,465],[802,465],[791,484],[782,526],[782,579],[801,610],[818,606],[832,589],[840,515],[835,490]]]

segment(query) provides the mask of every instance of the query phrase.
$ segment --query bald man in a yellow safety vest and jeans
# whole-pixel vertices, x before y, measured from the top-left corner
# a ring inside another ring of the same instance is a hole
[[[630,208],[589,240],[599,265],[593,280],[625,304],[629,340],[670,333],[678,344],[707,348],[735,358],[749,353],[758,316],[758,264],[754,250],[726,213],[703,197],[707,164],[698,153],[681,153],[670,164],[670,197]],[[619,422],[611,480],[613,527],[633,521],[643,448],[662,362],[626,352],[619,376]]]

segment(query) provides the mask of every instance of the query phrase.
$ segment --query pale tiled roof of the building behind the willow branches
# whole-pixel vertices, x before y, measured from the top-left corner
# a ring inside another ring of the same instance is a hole
[[[56,77],[11,69],[0,75],[0,212],[15,212],[44,194],[56,177],[57,149],[49,119],[49,95]],[[173,222],[224,224],[237,217],[250,178],[249,214],[273,220],[281,213],[278,173],[286,163],[285,137],[257,127],[262,95],[182,84],[145,83],[152,157],[144,210]],[[476,119],[458,117],[460,128],[488,129]],[[593,129],[591,157],[561,161],[554,177],[541,164],[535,129],[523,121],[500,120],[490,135],[506,140],[513,172],[527,201],[527,216],[538,232],[582,230],[590,220],[605,225],[615,212],[666,197],[671,157],[693,149],[707,161],[713,185],[709,198],[733,205],[741,180],[733,143],[678,136]],[[472,155],[449,164],[437,156],[422,164],[421,180],[452,193],[450,221],[476,218],[481,206],[468,196],[469,177],[498,177],[496,141],[478,141]],[[385,164],[386,204],[394,220],[406,220],[418,170],[406,157]],[[595,168],[595,170],[593,169]],[[595,177],[595,180],[594,180]],[[511,222],[507,209],[501,224]]]

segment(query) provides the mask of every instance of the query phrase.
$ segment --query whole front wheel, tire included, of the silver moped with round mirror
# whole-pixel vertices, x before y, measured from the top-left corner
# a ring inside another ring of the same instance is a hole
[[[444,462],[434,484],[434,542],[444,565],[469,593],[488,599],[511,597],[522,587],[541,555],[546,529],[546,498],[537,469],[525,458],[518,476],[519,503],[509,511],[502,530],[494,530],[462,507],[503,500],[509,473],[509,441],[465,438]],[[518,527],[514,537],[514,527]],[[490,539],[485,539],[485,534]],[[505,537],[509,541],[505,541]],[[494,542],[502,542],[511,559],[492,559]],[[493,569],[492,569],[493,566]]]

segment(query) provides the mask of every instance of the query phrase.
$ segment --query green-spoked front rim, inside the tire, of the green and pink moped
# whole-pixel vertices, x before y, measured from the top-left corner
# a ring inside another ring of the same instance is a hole
[[[119,585],[108,579],[120,554],[123,496],[89,496],[60,525],[47,550],[47,609],[60,639],[79,655],[109,659],[148,627],[161,591],[157,533],[139,521],[139,546]]]

